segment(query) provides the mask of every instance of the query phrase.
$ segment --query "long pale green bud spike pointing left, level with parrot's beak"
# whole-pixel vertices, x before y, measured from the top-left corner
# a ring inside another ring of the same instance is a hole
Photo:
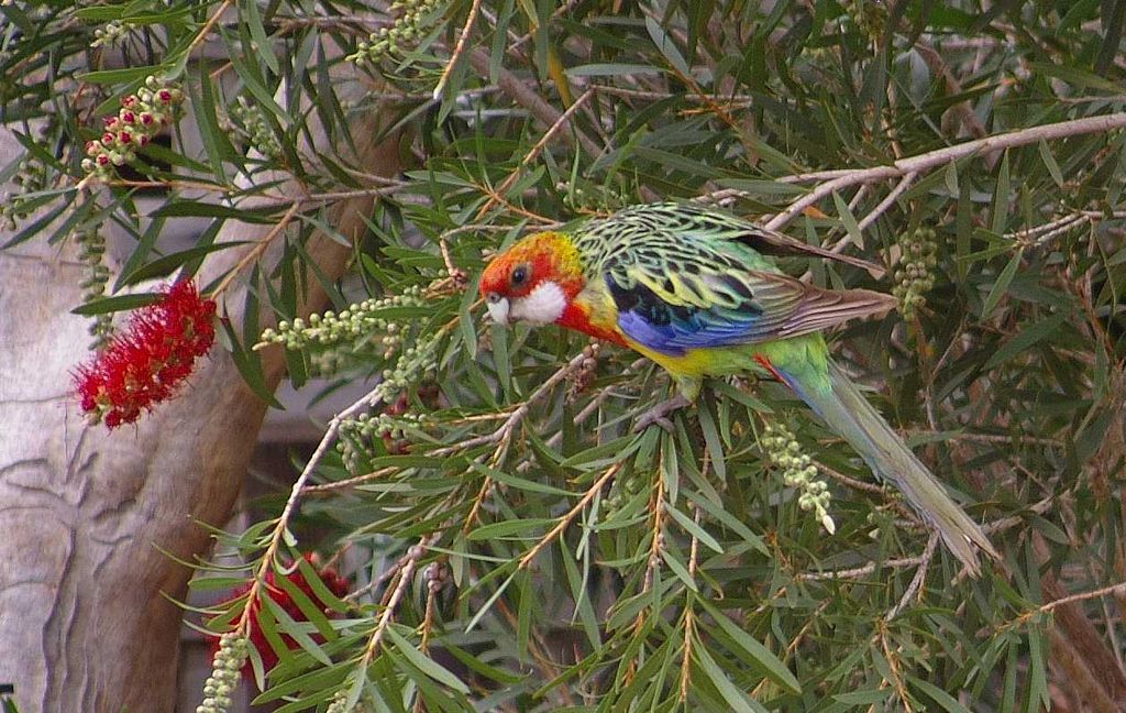
[[[390,308],[417,308],[425,304],[422,287],[412,285],[402,294],[383,300],[365,300],[339,314],[325,312],[311,314],[307,321],[298,317],[292,322],[278,322],[276,329],[262,332],[254,349],[279,344],[295,351],[314,346],[350,344],[373,332],[383,332],[381,340],[381,346],[384,348],[383,358],[391,358],[402,344],[405,328],[399,322],[379,317],[379,312]]]

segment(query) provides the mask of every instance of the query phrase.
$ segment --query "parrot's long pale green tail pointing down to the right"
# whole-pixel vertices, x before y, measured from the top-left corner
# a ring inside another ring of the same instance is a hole
[[[779,374],[878,476],[903,493],[919,517],[938,531],[946,546],[971,574],[976,576],[980,571],[977,550],[999,559],[981,527],[950,499],[942,484],[868,403],[848,374],[831,359],[828,367],[828,382],[807,376],[802,368],[779,368]]]

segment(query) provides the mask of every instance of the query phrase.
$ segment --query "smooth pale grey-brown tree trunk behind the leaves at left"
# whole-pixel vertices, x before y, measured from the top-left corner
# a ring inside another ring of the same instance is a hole
[[[374,119],[363,123],[360,164],[393,175],[395,141],[376,144]],[[331,224],[358,233],[369,208],[341,203]],[[223,232],[252,240],[268,229]],[[309,250],[330,277],[348,259],[328,238]],[[216,253],[203,279],[236,252]],[[216,346],[184,393],[135,428],[84,424],[70,385],[90,341],[88,320],[70,314],[84,274],[74,255],[42,240],[0,251],[0,683],[28,712],[171,711],[182,613],[169,597],[185,598],[193,571],[166,552],[206,554],[200,523],[230,518],[266,407]],[[306,288],[304,313],[324,302],[315,282]],[[272,387],[280,355],[263,359]]]

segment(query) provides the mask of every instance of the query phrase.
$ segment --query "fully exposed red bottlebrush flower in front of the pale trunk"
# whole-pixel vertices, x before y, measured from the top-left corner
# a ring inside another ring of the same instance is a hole
[[[98,157],[99,162],[105,157]],[[137,310],[125,331],[73,374],[82,410],[108,428],[132,424],[171,398],[215,341],[215,301],[189,279]]]

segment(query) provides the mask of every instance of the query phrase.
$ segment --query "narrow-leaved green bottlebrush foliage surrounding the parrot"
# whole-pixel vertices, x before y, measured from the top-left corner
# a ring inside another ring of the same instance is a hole
[[[197,269],[227,220],[282,224],[284,257],[240,276],[248,312],[263,305],[289,327],[278,331],[291,378],[382,374],[373,400],[399,401],[364,420],[354,409],[330,433],[339,447],[295,520],[220,536],[277,565],[347,546],[364,563],[351,573],[373,582],[347,603],[322,592],[336,618],[307,600],[310,622],[259,615],[301,644],[261,701],[828,713],[1103,710],[1120,695],[1105,663],[1121,660],[1123,589],[1084,594],[1126,578],[1120,132],[847,185],[786,228],[887,267],[793,260],[795,274],[884,292],[905,240],[935,231],[924,305],[850,327],[834,351],[989,524],[1004,560],[978,580],[928,547],[777,384],[714,383],[673,433],[634,435],[633,415],[665,394],[659,369],[613,347],[583,358],[586,340],[555,328],[491,328],[474,279],[520,234],[622,205],[705,199],[765,221],[840,177],[802,175],[1121,112],[1123,3],[134,0],[0,12],[3,121],[27,151],[3,172],[23,186],[8,212],[66,217],[51,231],[19,221],[9,244],[113,222],[135,243],[111,294]],[[124,44],[91,48],[109,21],[133,24]],[[356,52],[369,57],[358,101],[342,89]],[[134,166],[144,186],[73,200],[97,117],[154,73],[182,82],[202,140],[173,132]],[[347,146],[368,139],[350,135],[355,118],[372,115],[408,166],[394,180],[348,163]],[[311,150],[314,134],[336,149]],[[305,194],[245,208],[279,177]],[[154,187],[163,205],[140,216],[135,196]],[[293,329],[297,277],[316,270],[303,242],[332,234],[334,199],[376,194],[354,270],[323,280],[339,319]],[[212,229],[163,255],[161,231],[185,216]],[[226,335],[252,385],[261,323]],[[832,536],[759,446],[779,421],[828,474]],[[330,536],[270,547],[276,528],[306,519]],[[215,568],[198,583],[245,577]],[[1066,592],[1081,596],[1060,606],[1085,626],[1053,622],[1046,603]]]

